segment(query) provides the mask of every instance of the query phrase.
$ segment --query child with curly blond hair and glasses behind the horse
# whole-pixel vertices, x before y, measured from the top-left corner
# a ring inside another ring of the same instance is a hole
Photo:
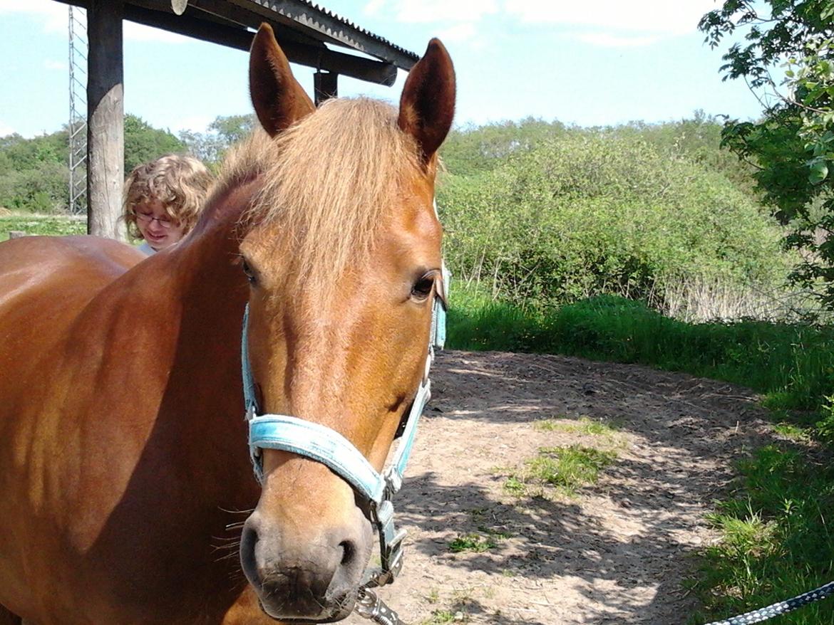
[[[197,223],[213,180],[196,158],[166,154],[133,169],[124,183],[124,221],[139,249],[157,253],[183,238]]]

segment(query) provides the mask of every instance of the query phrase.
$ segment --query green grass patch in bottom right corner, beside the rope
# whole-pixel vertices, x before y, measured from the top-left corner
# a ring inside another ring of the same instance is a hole
[[[708,519],[721,540],[703,553],[691,583],[705,607],[691,622],[764,607],[834,578],[834,468],[771,445],[738,471],[735,493]],[[834,604],[828,599],[774,622],[831,625]]]

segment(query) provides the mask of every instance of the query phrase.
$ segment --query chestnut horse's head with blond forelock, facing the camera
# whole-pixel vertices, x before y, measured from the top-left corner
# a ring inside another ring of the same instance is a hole
[[[254,394],[264,412],[338,433],[379,472],[425,375],[441,288],[433,199],[452,63],[432,40],[399,110],[362,98],[316,110],[264,26],[249,79],[271,155],[240,245]],[[290,621],[346,617],[375,544],[369,502],[324,463],[260,454],[240,557],[261,606]]]

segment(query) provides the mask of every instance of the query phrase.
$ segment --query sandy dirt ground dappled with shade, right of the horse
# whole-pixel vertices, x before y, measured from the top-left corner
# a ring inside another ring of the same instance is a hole
[[[755,395],[635,365],[511,353],[445,352],[403,490],[405,565],[380,594],[409,625],[682,625],[682,582],[714,540],[705,522],[732,462],[775,436]],[[613,437],[535,422],[614,423]],[[574,498],[504,488],[539,448],[615,450]],[[471,532],[495,542],[452,552]],[[355,614],[346,621],[364,625]]]

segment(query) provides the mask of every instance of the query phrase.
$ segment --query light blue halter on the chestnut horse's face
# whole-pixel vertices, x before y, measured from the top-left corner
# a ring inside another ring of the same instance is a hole
[[[432,306],[429,355],[426,358],[423,378],[405,420],[399,446],[383,473],[377,473],[353,443],[335,430],[285,414],[259,414],[254,380],[249,367],[249,304],[244,312],[241,363],[244,408],[246,420],[249,422],[249,456],[252,458],[255,478],[258,478],[259,483],[264,481],[261,449],[279,449],[326,465],[361,494],[369,502],[371,522],[379,533],[381,556],[381,567],[365,573],[364,586],[384,586],[393,582],[402,568],[402,542],[405,530],[397,531],[394,527],[394,504],[391,498],[402,487],[405,467],[417,435],[417,423],[431,397],[429,369],[435,359],[435,348],[442,349],[446,340],[446,301],[449,295],[450,273],[445,264],[442,273],[443,294],[442,297],[435,295]]]

